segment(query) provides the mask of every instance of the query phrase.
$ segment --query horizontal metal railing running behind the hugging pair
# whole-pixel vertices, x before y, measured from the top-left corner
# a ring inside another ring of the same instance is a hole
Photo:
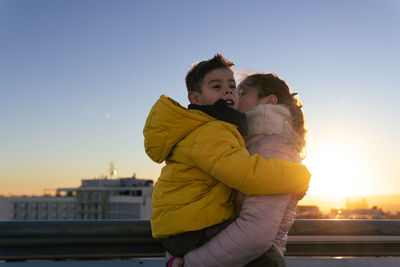
[[[400,256],[400,220],[296,220],[287,256]],[[0,221],[0,260],[162,257],[149,221]]]

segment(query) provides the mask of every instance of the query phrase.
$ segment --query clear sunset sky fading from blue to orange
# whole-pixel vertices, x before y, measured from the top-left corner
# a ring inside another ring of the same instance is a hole
[[[400,194],[400,1],[0,0],[0,195],[156,179],[152,104],[222,53],[304,104],[310,195]]]

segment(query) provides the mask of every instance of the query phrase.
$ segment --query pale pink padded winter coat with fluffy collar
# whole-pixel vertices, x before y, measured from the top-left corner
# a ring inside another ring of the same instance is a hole
[[[282,105],[258,105],[247,113],[251,154],[300,162],[297,135],[290,124],[290,112]],[[248,196],[237,193],[239,216],[202,247],[184,257],[185,267],[244,266],[271,246],[283,255],[287,233],[295,218],[294,195]]]

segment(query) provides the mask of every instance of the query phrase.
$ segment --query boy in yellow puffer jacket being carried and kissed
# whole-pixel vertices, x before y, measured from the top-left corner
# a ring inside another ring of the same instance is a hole
[[[148,156],[166,163],[153,191],[152,234],[175,257],[232,221],[234,189],[248,195],[308,189],[305,166],[247,152],[233,65],[217,54],[193,66],[186,75],[188,109],[161,96],[143,129]]]

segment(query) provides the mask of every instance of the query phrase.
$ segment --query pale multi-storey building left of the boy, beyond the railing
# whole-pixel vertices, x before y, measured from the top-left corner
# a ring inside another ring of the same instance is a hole
[[[0,197],[0,220],[150,219],[153,181],[131,178],[82,180],[55,196]]]

